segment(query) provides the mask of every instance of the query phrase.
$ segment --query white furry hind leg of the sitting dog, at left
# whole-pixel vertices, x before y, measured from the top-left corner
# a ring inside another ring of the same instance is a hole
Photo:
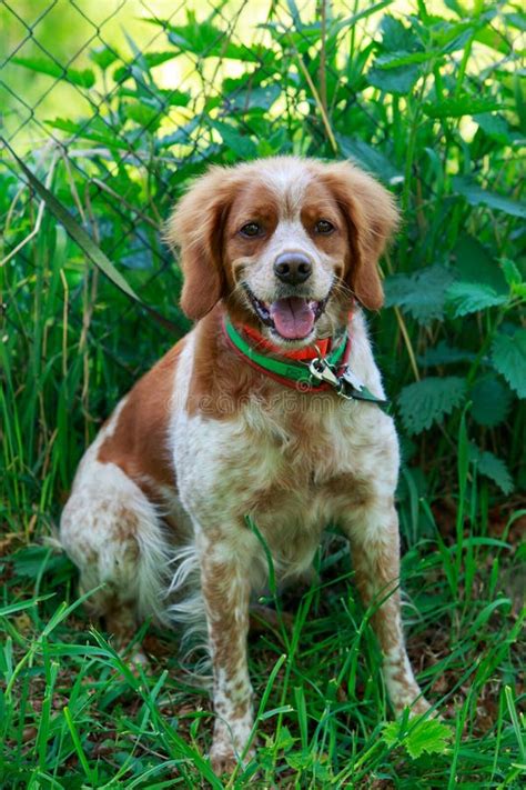
[[[88,451],[62,512],[60,541],[79,568],[81,594],[102,617],[120,650],[142,619],[163,620],[169,546],[161,519],[139,486],[118,466]],[[144,661],[139,648],[132,659]]]

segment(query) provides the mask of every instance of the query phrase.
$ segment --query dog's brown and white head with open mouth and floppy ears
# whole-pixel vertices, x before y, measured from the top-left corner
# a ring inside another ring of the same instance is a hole
[[[306,346],[341,326],[353,299],[382,306],[376,264],[396,221],[391,194],[348,162],[212,168],[168,226],[181,248],[181,307],[200,319],[223,299],[274,343]]]

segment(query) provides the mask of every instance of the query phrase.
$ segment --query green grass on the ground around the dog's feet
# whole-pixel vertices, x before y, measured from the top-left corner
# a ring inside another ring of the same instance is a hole
[[[230,786],[519,787],[524,613],[513,536],[510,523],[499,539],[466,532],[455,594],[457,544],[437,534],[404,558],[409,654],[447,723],[445,741],[434,722],[386,726],[378,648],[348,559],[330,554],[323,581],[285,593],[291,631],[251,639],[261,746]],[[222,787],[205,758],[210,700],[181,670],[178,633],[150,629],[151,670],[136,677],[79,608],[62,554],[22,548],[2,573],[2,787]],[[429,751],[412,757],[415,739]]]

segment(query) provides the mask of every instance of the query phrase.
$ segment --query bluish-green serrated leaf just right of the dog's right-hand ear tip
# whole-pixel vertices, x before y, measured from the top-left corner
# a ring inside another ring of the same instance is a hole
[[[385,303],[396,304],[422,324],[444,317],[444,303],[453,274],[442,266],[427,267],[414,274],[393,274],[385,279]]]

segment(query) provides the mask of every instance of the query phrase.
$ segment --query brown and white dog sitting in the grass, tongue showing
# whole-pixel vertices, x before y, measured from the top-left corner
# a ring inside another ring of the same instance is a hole
[[[194,329],[118,404],[85,452],[61,520],[81,591],[117,638],[141,618],[206,620],[215,729],[230,769],[253,726],[249,603],[267,561],[304,574],[324,527],[351,542],[358,590],[396,712],[428,706],[401,623],[398,443],[377,404],[285,387],[229,342],[225,314],[271,358],[308,360],[347,329],[347,362],[376,397],[363,306],[383,302],[377,260],[397,221],[390,193],[347,162],[293,157],[212,168],[169,223]],[[391,593],[391,594],[390,594]]]

